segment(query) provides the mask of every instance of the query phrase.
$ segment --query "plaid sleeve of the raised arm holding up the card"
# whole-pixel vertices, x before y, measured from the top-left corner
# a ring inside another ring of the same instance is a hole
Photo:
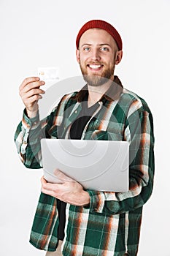
[[[28,118],[26,109],[23,111],[23,119],[15,131],[15,145],[23,165],[27,168],[42,168],[40,141],[42,138],[58,138],[66,102],[70,97],[72,94],[64,95],[50,115],[42,120],[39,120],[39,113],[34,118]]]

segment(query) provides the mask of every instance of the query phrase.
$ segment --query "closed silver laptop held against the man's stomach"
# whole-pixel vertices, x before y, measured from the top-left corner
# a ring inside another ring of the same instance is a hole
[[[129,143],[115,140],[42,139],[45,179],[63,183],[54,175],[59,169],[85,189],[128,191]]]

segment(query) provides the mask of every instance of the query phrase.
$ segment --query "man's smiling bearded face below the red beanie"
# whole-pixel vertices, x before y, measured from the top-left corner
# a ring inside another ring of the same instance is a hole
[[[90,86],[101,86],[113,80],[117,45],[103,29],[88,29],[80,38],[77,61],[85,81]]]

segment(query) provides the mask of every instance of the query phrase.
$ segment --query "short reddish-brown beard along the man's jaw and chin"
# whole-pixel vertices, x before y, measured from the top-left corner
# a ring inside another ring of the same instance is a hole
[[[82,76],[84,80],[88,83],[89,86],[102,86],[104,83],[107,83],[112,75],[114,74],[115,65],[104,70],[101,76],[99,75],[88,75],[87,70],[82,67],[80,63],[80,69],[82,71]]]

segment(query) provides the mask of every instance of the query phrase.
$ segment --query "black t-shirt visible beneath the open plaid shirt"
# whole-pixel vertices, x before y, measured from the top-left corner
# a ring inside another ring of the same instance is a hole
[[[72,124],[70,129],[70,139],[80,140],[82,137],[82,131],[85,128],[85,125],[90,120],[93,113],[98,108],[98,102],[88,108],[88,101],[87,98],[82,103],[82,110],[80,111],[79,116]],[[58,208],[58,218],[59,218],[59,226],[58,226],[58,239],[63,240],[64,238],[64,227],[66,222],[66,203],[57,200],[57,208]]]

